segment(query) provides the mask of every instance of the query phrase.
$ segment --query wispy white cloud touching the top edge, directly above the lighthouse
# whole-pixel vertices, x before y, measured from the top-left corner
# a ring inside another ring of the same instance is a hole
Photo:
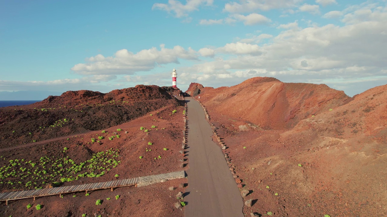
[[[187,0],[187,3],[183,5],[177,0],[168,0],[168,4],[154,3],[152,10],[159,9],[165,10],[168,13],[175,14],[175,17],[187,17],[189,12],[199,10],[201,5],[211,6],[214,0]]]

